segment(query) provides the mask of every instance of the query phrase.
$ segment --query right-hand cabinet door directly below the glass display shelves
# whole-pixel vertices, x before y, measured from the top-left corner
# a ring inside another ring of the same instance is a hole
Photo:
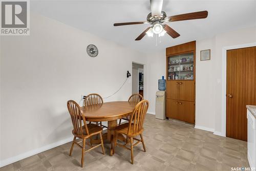
[[[179,100],[195,101],[195,83],[194,81],[179,81]]]

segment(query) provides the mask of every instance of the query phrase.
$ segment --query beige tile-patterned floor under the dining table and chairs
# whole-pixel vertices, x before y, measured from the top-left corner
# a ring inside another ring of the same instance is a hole
[[[96,148],[85,155],[80,167],[81,149],[71,143],[0,168],[4,170],[231,170],[231,167],[249,167],[247,143],[220,137],[211,132],[194,129],[193,125],[172,120],[158,120],[146,115],[144,140],[134,148],[135,162],[130,163],[130,151],[116,148],[109,156],[109,144],[104,144],[106,154]]]

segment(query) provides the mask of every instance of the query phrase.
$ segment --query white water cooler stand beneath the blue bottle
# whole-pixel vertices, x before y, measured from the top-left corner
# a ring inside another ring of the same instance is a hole
[[[165,91],[157,91],[156,93],[156,118],[166,119],[165,117]]]

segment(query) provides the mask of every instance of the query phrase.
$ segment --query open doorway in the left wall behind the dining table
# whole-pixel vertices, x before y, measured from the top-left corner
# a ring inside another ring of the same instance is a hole
[[[132,94],[140,94],[143,96],[144,86],[144,66],[138,63],[132,63]]]

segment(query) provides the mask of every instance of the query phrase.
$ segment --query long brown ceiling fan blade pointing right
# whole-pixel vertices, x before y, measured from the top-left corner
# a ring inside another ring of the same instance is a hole
[[[189,20],[189,19],[200,19],[206,18],[208,16],[208,11],[199,11],[199,12],[191,12],[186,14],[169,16],[169,22],[177,22],[181,20]]]

